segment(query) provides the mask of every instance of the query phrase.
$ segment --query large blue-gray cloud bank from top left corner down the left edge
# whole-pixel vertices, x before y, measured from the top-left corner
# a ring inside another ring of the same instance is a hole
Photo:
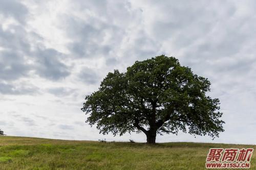
[[[0,27],[0,80],[13,81],[29,77],[33,71],[42,78],[59,80],[70,75],[63,63],[63,55],[53,48],[46,48],[44,38],[26,30],[28,9],[18,1],[3,1],[0,16],[14,18],[19,23]],[[5,24],[5,22],[3,23]],[[5,29],[4,29],[5,28]],[[11,87],[10,87],[11,88]]]

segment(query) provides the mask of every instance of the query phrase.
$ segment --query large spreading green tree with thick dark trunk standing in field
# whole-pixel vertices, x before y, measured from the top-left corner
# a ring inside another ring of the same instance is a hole
[[[147,143],[155,143],[157,133],[178,131],[215,138],[224,122],[219,99],[211,99],[209,91],[207,78],[161,55],[136,61],[126,72],[109,72],[81,110],[103,134],[143,132]]]

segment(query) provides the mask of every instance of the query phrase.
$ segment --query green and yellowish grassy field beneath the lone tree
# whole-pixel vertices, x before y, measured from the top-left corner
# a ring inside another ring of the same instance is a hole
[[[209,148],[254,148],[212,143],[71,141],[0,137],[0,169],[206,169]],[[256,169],[255,156],[251,168]]]

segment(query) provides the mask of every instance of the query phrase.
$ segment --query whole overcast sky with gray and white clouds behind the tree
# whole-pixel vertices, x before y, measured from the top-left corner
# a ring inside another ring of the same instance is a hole
[[[157,142],[256,144],[255,1],[0,0],[0,129],[10,136],[145,142],[99,134],[80,110],[114,69],[173,56],[211,82],[225,132]]]

